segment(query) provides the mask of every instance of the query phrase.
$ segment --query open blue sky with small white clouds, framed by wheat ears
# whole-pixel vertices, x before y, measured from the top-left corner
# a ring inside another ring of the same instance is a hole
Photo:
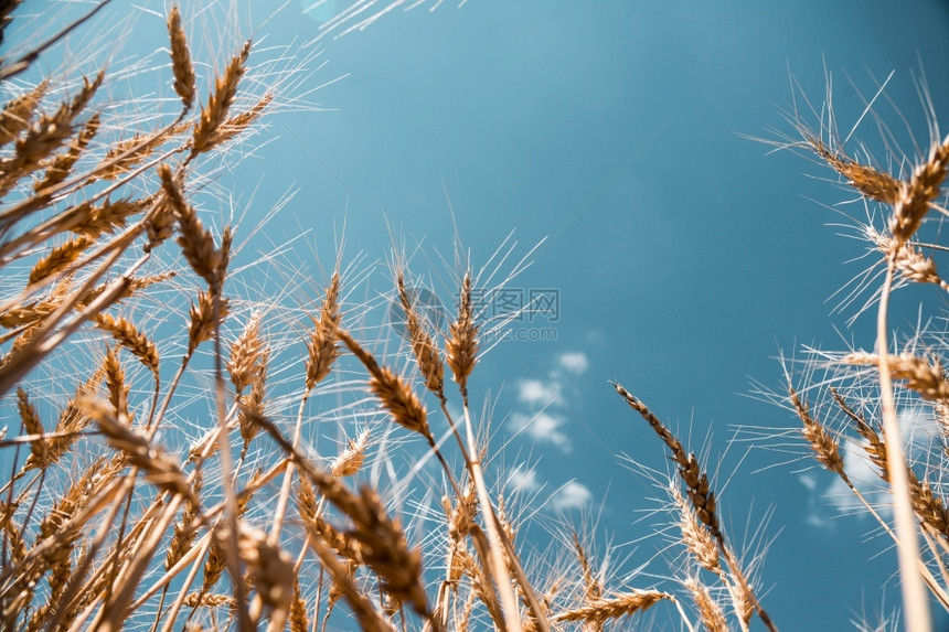
[[[245,24],[266,21],[266,46],[311,42],[348,4],[307,11],[313,2],[291,0],[269,19],[270,2],[235,4]],[[160,2],[114,4],[114,14],[163,36],[150,12]],[[788,454],[776,449],[781,439],[739,432],[732,441],[740,428],[778,436],[798,427],[792,414],[748,397],[756,383],[782,388],[779,353],[873,345],[872,317],[849,329],[856,307],[832,313],[834,292],[865,268],[845,265],[864,246],[830,225],[846,221],[825,206],[852,196],[821,180],[832,179],[825,169],[769,156],[743,135],[792,132],[781,111],[795,94],[820,107],[830,76],[846,133],[895,72],[893,103],[878,110],[903,133],[898,110],[927,142],[915,82],[925,75],[949,126],[949,2],[468,0],[429,12],[433,4],[319,44],[309,66],[326,65],[291,92],[327,84],[306,96],[323,109],[284,108],[265,132],[275,140],[241,168],[256,190],[247,226],[297,191],[252,249],[307,232],[301,260],[319,283],[343,226],[349,261],[384,261],[394,233],[409,250],[420,244],[412,271],[450,297],[439,254],[451,261],[456,229],[474,269],[512,232],[514,260],[541,244],[509,286],[556,290],[557,318],[512,326],[547,328],[556,340],[503,342],[472,377],[476,408],[493,401],[492,447],[504,446],[492,471],[514,473],[511,486],[541,507],[537,523],[596,522],[597,553],[619,547],[611,587],[650,588],[670,572],[670,535],[649,537],[668,524],[651,514],[665,496],[628,460],[663,475],[671,468],[608,384],[618,381],[706,449],[739,548],[759,550],[756,536],[769,543],[759,577],[781,629],[847,629],[861,613],[891,613],[895,554],[868,517],[838,506],[831,474],[798,459],[800,442]],[[871,117],[857,137],[879,148]],[[863,215],[859,205],[843,210]],[[385,280],[384,269],[375,274]],[[913,304],[902,309],[915,319]]]

